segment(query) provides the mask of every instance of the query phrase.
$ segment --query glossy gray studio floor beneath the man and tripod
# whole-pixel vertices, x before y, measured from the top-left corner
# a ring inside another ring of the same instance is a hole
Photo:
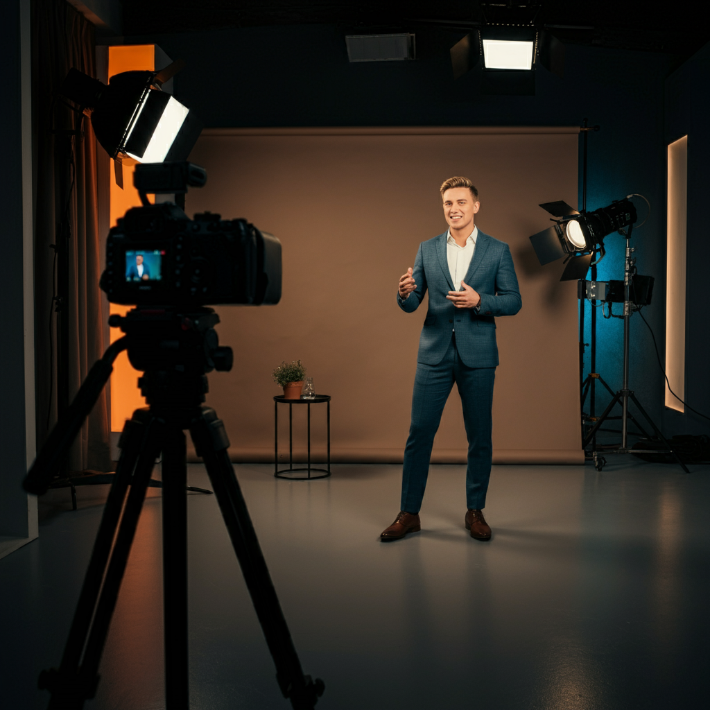
[[[627,710],[704,706],[710,466],[618,457],[496,466],[491,542],[466,534],[463,466],[432,466],[422,532],[381,544],[398,466],[239,479],[323,710]],[[190,484],[207,486],[202,466]],[[0,560],[7,710],[46,706],[106,488],[43,502],[40,539]],[[90,710],[163,702],[160,493],[138,530]],[[214,496],[191,494],[191,708],[287,709]]]

